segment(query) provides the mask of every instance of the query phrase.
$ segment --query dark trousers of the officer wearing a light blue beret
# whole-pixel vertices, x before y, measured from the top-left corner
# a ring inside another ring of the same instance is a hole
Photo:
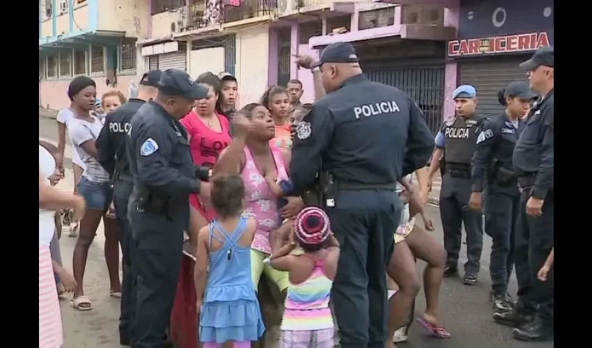
[[[456,267],[462,243],[462,223],[467,232],[467,263],[465,272],[477,274],[481,267],[481,251],[483,250],[483,215],[469,209],[471,196],[471,180],[451,177],[445,173],[442,177],[440,191],[440,219],[444,229],[444,248],[446,264]]]

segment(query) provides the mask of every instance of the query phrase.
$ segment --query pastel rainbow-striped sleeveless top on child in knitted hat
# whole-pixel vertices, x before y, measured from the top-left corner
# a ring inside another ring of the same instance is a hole
[[[301,257],[311,258],[307,254]],[[309,331],[333,328],[329,298],[333,280],[323,273],[323,261],[315,260],[311,275],[304,282],[288,286],[286,310],[283,312],[281,329],[286,331]]]

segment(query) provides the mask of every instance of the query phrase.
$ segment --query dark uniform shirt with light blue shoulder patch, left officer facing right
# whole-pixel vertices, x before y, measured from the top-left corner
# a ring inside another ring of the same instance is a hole
[[[162,106],[143,104],[127,135],[127,158],[136,184],[169,196],[199,192],[187,132]]]

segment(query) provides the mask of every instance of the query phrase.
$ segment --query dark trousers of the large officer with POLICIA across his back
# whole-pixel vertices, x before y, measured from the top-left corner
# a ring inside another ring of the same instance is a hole
[[[327,207],[341,248],[332,302],[343,348],[384,348],[387,264],[403,212],[395,191],[340,191]]]

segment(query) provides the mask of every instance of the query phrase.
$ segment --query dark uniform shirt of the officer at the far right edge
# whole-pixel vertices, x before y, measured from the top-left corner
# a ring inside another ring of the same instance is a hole
[[[536,175],[531,196],[543,199],[554,187],[554,90],[529,112],[513,155],[518,176]]]

